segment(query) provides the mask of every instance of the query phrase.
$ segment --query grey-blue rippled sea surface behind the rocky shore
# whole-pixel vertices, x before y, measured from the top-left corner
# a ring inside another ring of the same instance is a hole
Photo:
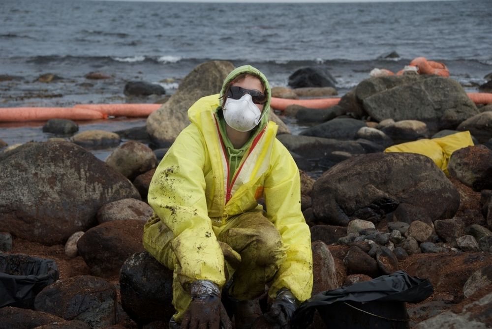
[[[392,52],[396,58],[385,58]],[[491,1],[0,1],[0,107],[154,102],[126,98],[124,84],[158,83],[172,94],[208,60],[252,64],[272,86],[286,86],[302,67],[324,69],[343,95],[373,68],[396,72],[420,56],[445,63],[451,78],[477,91],[492,72]],[[111,78],[84,77],[93,71]],[[62,80],[37,82],[45,73]],[[145,120],[94,124],[114,131]],[[9,144],[49,137],[39,131],[39,124],[0,123]]]

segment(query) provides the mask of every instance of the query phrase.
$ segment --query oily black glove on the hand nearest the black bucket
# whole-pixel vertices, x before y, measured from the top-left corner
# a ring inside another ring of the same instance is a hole
[[[278,292],[277,298],[274,300],[270,310],[264,314],[264,317],[275,329],[288,329],[296,309],[296,298],[289,290],[282,289]]]

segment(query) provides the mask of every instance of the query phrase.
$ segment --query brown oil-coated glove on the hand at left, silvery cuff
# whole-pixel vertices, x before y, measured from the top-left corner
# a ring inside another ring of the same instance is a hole
[[[181,321],[181,329],[232,329],[232,323],[220,301],[220,291],[211,281],[198,280],[188,287],[191,302]]]

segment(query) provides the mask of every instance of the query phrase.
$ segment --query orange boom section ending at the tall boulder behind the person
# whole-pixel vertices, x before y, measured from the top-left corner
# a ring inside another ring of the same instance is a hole
[[[145,118],[161,107],[162,104],[80,104],[75,109],[89,109],[108,116]]]

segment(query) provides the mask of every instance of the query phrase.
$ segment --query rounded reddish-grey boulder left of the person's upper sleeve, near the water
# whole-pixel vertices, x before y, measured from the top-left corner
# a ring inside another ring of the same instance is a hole
[[[157,167],[154,151],[135,141],[117,147],[104,162],[130,180]]]

